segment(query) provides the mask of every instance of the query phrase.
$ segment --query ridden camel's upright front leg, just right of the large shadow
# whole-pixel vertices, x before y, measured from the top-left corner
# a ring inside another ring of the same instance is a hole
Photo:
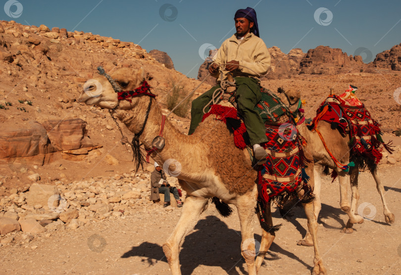
[[[256,274],[255,268],[255,239],[253,237],[252,221],[255,215],[256,198],[253,192],[238,196],[236,207],[241,223],[241,255],[244,257],[250,275]]]

